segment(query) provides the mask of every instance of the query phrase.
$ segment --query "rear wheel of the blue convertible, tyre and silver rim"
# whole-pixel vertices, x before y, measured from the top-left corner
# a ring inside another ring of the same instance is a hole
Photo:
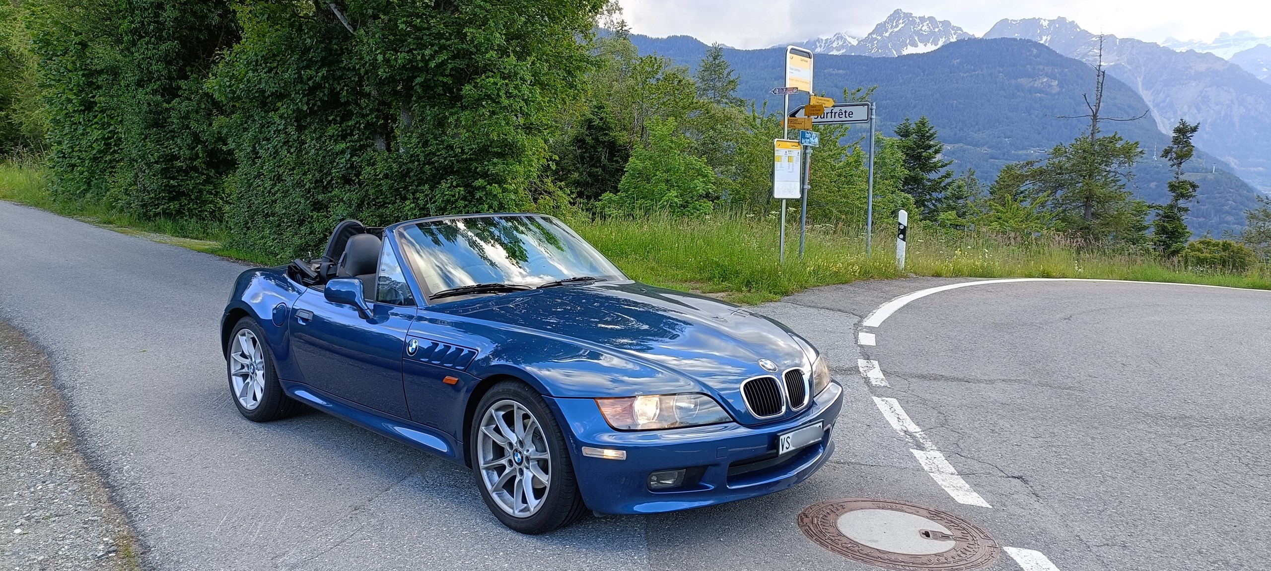
[[[300,410],[300,401],[291,398],[278,382],[273,353],[264,331],[250,317],[243,317],[230,332],[225,351],[230,400],[248,420],[268,423],[285,419]]]

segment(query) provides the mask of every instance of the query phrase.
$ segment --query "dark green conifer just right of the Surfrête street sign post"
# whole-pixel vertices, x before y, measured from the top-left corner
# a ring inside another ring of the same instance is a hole
[[[896,126],[896,142],[901,155],[905,156],[905,175],[901,189],[914,197],[919,214],[928,220],[934,220],[939,213],[941,200],[948,189],[948,181],[953,173],[944,170],[952,165],[952,160],[941,160],[944,143],[935,138],[935,128],[927,121],[927,115],[919,117],[916,122],[905,118],[905,122]],[[941,173],[944,170],[943,173]]]

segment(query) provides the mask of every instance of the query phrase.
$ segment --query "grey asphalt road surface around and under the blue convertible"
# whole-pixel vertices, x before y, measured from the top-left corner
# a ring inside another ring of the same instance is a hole
[[[217,348],[241,265],[0,202],[0,320],[47,353],[150,568],[873,568],[796,524],[807,505],[849,496],[948,510],[1064,571],[1258,568],[1271,556],[1271,293],[981,284],[910,303],[876,346],[857,345],[862,316],[957,280],[765,305],[844,383],[825,468],[756,500],[525,537],[489,515],[466,471],[427,453],[318,412],[241,419]],[[892,386],[866,382],[862,358]],[[896,398],[993,508],[937,486],[876,397]],[[1003,556],[989,568],[1019,566]]]

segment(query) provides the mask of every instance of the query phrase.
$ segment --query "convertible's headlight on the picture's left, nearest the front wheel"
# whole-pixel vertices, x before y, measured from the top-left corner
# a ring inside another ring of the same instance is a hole
[[[596,405],[605,421],[616,430],[657,430],[732,420],[714,398],[705,395],[596,398]]]

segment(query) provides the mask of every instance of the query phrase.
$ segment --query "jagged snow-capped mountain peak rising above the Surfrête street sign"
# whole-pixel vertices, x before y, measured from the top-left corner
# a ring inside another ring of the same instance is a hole
[[[836,33],[810,39],[801,46],[816,53],[894,57],[929,52],[946,43],[974,37],[948,20],[916,16],[896,9],[863,38]]]

